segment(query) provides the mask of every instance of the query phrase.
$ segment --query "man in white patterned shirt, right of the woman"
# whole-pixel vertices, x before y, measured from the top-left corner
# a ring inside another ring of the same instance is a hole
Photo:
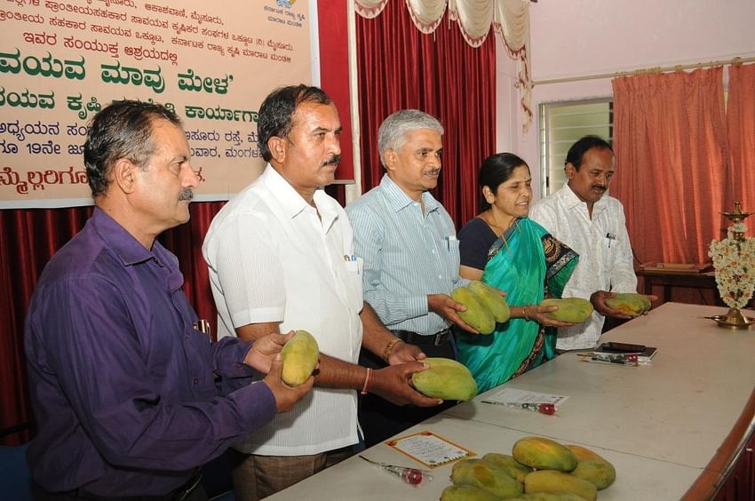
[[[624,207],[606,195],[616,168],[611,145],[585,136],[569,148],[568,183],[532,206],[530,219],[579,254],[579,263],[563,291],[564,298],[589,298],[595,311],[587,322],[559,329],[559,351],[597,345],[606,316],[629,319],[606,305],[616,292],[636,292],[632,246]]]

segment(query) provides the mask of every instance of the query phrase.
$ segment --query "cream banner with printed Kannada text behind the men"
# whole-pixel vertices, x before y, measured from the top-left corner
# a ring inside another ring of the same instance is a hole
[[[257,177],[257,110],[313,83],[310,0],[0,0],[0,209],[91,203],[87,124],[117,99],[183,120],[197,200]]]

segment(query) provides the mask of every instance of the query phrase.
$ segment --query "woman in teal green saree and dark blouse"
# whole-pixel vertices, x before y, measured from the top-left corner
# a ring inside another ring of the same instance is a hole
[[[480,168],[481,212],[462,227],[459,274],[506,291],[512,318],[489,336],[457,333],[458,360],[482,393],[555,356],[555,306],[537,306],[547,294],[560,298],[577,255],[529,219],[532,177],[519,156],[499,153]]]

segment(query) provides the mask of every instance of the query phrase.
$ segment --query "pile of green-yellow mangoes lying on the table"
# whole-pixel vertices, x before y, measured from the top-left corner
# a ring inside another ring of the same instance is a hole
[[[511,456],[457,462],[451,481],[441,501],[594,501],[616,481],[616,469],[590,449],[532,436],[514,443]]]

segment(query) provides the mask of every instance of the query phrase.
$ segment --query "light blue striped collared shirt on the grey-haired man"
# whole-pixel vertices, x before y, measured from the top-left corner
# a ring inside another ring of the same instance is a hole
[[[428,192],[422,204],[386,174],[346,213],[354,252],[364,259],[364,300],[388,329],[430,335],[448,322],[428,311],[427,296],[450,295],[468,281],[458,275],[459,243],[449,213]]]

